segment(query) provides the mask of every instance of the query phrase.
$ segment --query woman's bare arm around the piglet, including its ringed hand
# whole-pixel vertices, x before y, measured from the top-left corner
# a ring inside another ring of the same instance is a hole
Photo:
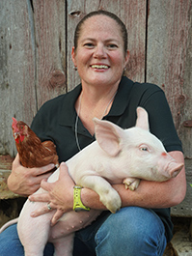
[[[181,152],[171,152],[171,156],[175,157],[179,162],[184,162]],[[67,165],[60,165],[60,177],[56,183],[48,184],[41,182],[41,187],[47,192],[32,195],[29,197],[31,201],[49,202],[52,209],[57,209],[57,213],[53,216],[52,224],[55,224],[63,213],[72,211],[73,206],[73,181],[69,177]],[[124,185],[113,185],[122,198],[122,206],[140,206],[144,208],[169,208],[178,205],[185,196],[186,181],[184,167],[176,178],[167,182],[156,183],[141,181],[135,191],[125,189]],[[107,210],[99,201],[98,194],[89,188],[81,189],[82,203],[96,210]],[[42,213],[48,213],[49,210],[45,205],[40,210],[33,213],[38,216]]]

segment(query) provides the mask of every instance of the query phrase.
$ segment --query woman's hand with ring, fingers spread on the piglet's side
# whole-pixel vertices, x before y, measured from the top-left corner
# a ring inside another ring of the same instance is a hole
[[[58,181],[50,184],[43,180],[41,182],[41,188],[47,192],[34,194],[29,197],[29,200],[33,202],[48,202],[49,209],[46,204],[41,209],[31,213],[31,216],[36,217],[56,209],[57,212],[53,215],[51,220],[51,224],[54,225],[64,213],[72,211],[73,186],[74,183],[69,176],[68,166],[66,163],[62,162],[60,164]]]

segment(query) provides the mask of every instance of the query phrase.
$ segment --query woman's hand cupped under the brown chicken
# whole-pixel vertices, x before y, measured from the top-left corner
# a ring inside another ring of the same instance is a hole
[[[41,180],[48,179],[54,168],[54,164],[48,164],[41,168],[26,168],[20,164],[16,155],[13,162],[12,173],[8,178],[8,187],[16,194],[28,196],[40,188]]]

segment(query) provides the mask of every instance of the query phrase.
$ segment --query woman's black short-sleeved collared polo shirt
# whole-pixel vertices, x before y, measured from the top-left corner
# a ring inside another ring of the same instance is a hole
[[[32,123],[32,129],[44,140],[52,140],[57,146],[59,161],[66,161],[78,152],[75,140],[75,101],[81,92],[81,85],[68,94],[46,101]],[[149,113],[151,133],[164,144],[167,152],[182,151],[171,111],[164,92],[156,85],[133,82],[123,76],[109,113],[103,118],[122,128],[131,128],[136,122],[137,106]],[[78,141],[81,149],[95,140],[78,120]],[[172,238],[170,209],[154,209],[163,220],[168,241]]]

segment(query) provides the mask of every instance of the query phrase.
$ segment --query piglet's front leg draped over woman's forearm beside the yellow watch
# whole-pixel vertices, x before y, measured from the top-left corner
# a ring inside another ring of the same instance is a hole
[[[102,177],[86,176],[83,177],[80,185],[89,187],[96,191],[100,201],[111,213],[116,213],[122,206],[119,193]]]

